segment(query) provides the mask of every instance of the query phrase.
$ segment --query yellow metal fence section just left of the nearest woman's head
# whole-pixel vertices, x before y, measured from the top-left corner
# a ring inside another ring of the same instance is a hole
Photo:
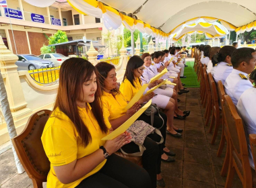
[[[28,71],[30,77],[34,79],[39,85],[56,83],[59,81],[59,68],[61,66],[56,66],[53,68],[40,68]]]

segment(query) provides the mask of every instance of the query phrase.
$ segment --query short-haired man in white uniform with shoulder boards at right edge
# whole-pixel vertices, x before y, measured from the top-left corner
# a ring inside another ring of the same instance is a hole
[[[224,84],[226,94],[228,94],[234,105],[247,90],[253,87],[248,79],[248,74],[253,72],[256,64],[256,51],[253,48],[238,48],[231,56],[233,70]],[[214,70],[215,71],[215,70]]]

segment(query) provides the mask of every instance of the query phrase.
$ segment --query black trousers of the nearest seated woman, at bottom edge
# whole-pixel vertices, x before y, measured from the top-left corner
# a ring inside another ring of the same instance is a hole
[[[112,154],[98,173],[84,179],[75,188],[149,188],[151,184],[147,171]]]

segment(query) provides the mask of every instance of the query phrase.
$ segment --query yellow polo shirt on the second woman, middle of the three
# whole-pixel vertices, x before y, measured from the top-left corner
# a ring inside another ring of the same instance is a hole
[[[115,120],[120,118],[121,116],[125,115],[127,109],[127,101],[125,96],[120,92],[115,97],[103,91],[102,95],[102,103],[104,108],[104,113],[109,120]]]

